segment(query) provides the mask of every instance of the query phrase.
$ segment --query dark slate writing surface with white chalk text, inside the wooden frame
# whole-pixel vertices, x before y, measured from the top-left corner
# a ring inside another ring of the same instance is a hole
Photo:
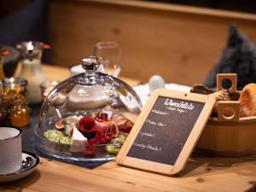
[[[127,156],[174,165],[204,105],[159,96]]]

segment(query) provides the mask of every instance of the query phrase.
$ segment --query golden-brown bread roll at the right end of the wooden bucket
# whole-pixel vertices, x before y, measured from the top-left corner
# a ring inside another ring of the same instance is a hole
[[[241,116],[249,117],[256,115],[256,84],[247,84],[241,90],[239,102]]]

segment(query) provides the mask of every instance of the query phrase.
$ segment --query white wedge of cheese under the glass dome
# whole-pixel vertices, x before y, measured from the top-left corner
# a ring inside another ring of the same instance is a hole
[[[76,128],[73,128],[73,136],[71,138],[70,152],[80,153],[84,151],[84,145],[87,142],[87,138]]]

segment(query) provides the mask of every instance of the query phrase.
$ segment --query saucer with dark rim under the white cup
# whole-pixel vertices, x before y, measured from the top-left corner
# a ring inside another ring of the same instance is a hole
[[[28,163],[26,165],[26,163]],[[39,158],[30,152],[22,152],[22,168],[20,172],[0,175],[0,183],[11,182],[30,175],[38,166]]]

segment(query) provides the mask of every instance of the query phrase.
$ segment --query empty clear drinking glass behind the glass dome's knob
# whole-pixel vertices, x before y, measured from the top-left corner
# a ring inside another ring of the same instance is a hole
[[[119,77],[119,73],[123,67],[122,49],[115,42],[99,42],[93,50],[101,65],[102,72]]]

